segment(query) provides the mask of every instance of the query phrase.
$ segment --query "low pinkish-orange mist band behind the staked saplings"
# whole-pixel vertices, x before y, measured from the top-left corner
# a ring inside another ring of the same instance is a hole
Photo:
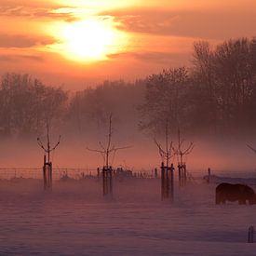
[[[120,135],[120,134],[119,134]],[[58,140],[52,136],[52,140]],[[137,138],[135,138],[137,137]],[[99,148],[99,141],[106,140],[105,136],[68,137],[62,135],[60,146],[53,152],[51,161],[53,168],[85,168],[95,173],[96,168],[102,168],[101,154],[91,152],[89,148]],[[138,132],[133,133],[133,138],[114,136],[117,146],[130,146],[116,153],[111,165],[114,168],[122,167],[134,171],[151,172],[160,168],[161,158],[153,138]],[[175,140],[174,140],[175,141]],[[187,138],[187,143],[194,141],[195,148],[185,158],[188,171],[191,174],[198,172],[207,173],[208,168],[214,171],[239,171],[254,172],[256,168],[256,155],[247,147],[253,143],[252,139],[246,140],[200,140]],[[175,143],[174,143],[175,145]],[[0,168],[41,168],[43,166],[44,151],[38,146],[37,141],[4,141],[0,145]],[[174,156],[172,162],[177,166]]]

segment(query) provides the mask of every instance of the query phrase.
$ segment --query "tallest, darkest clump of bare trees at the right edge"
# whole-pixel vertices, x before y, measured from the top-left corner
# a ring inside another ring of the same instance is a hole
[[[255,52],[255,39],[248,38],[225,41],[214,50],[205,42],[195,44],[195,86],[202,88],[198,106],[211,127],[225,132],[249,127],[255,114]]]

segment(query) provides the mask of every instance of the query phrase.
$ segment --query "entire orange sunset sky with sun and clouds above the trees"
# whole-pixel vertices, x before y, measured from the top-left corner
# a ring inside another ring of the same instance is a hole
[[[193,43],[256,35],[255,0],[0,0],[0,74],[76,90],[189,65]]]

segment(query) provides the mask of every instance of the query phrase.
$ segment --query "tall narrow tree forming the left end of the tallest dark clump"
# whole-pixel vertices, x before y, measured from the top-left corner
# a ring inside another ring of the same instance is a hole
[[[189,92],[190,104],[194,106],[192,126],[201,131],[216,131],[217,98],[214,75],[214,52],[209,42],[199,41],[194,44],[193,87]],[[200,113],[200,115],[198,115]],[[198,127],[200,123],[200,127]]]

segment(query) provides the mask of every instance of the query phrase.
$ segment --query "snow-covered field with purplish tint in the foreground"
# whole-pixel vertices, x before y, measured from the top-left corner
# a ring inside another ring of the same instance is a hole
[[[215,183],[175,188],[160,200],[159,180],[0,182],[0,255],[256,255],[248,244],[256,205],[214,204]],[[256,189],[255,186],[252,186]]]

